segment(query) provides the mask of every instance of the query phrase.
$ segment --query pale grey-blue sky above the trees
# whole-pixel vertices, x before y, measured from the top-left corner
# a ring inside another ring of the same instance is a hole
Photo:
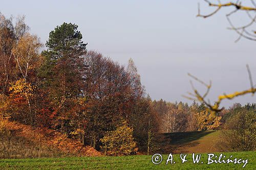
[[[214,10],[203,1],[4,1],[0,12],[5,16],[25,15],[31,33],[46,43],[49,32],[63,22],[78,25],[88,50],[94,50],[121,65],[132,58],[141,75],[141,82],[153,100],[188,102],[182,95],[191,92],[187,73],[205,82],[212,81],[208,95],[211,103],[218,95],[250,88],[246,64],[256,84],[256,42],[241,39],[229,27],[223,9],[207,19],[196,17]],[[246,23],[238,13],[234,23]],[[197,82],[194,86],[204,92]],[[225,101],[256,102],[248,94]]]

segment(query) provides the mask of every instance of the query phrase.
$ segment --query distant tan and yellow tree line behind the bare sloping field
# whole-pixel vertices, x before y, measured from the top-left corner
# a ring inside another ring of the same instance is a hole
[[[161,117],[160,131],[163,133],[218,130],[222,124],[222,112],[216,114],[204,103],[199,105],[194,101],[189,106],[187,103],[170,103],[161,99],[153,101],[153,106]]]

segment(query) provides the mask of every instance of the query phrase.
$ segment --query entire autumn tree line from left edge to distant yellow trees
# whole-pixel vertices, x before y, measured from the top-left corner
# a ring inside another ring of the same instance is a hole
[[[158,133],[216,130],[231,115],[196,102],[152,101],[132,59],[125,67],[88,51],[78,26],[66,22],[49,33],[45,49],[24,20],[0,13],[4,118],[128,155],[155,151]]]

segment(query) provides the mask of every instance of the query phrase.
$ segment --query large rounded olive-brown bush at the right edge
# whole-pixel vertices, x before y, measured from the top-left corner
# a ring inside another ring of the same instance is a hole
[[[237,109],[224,125],[217,145],[221,151],[255,151],[256,110]]]

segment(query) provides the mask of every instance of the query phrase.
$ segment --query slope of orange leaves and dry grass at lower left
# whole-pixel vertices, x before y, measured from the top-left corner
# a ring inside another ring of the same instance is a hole
[[[92,147],[51,129],[33,129],[10,121],[6,121],[4,127],[5,133],[0,132],[0,158],[101,155]]]

